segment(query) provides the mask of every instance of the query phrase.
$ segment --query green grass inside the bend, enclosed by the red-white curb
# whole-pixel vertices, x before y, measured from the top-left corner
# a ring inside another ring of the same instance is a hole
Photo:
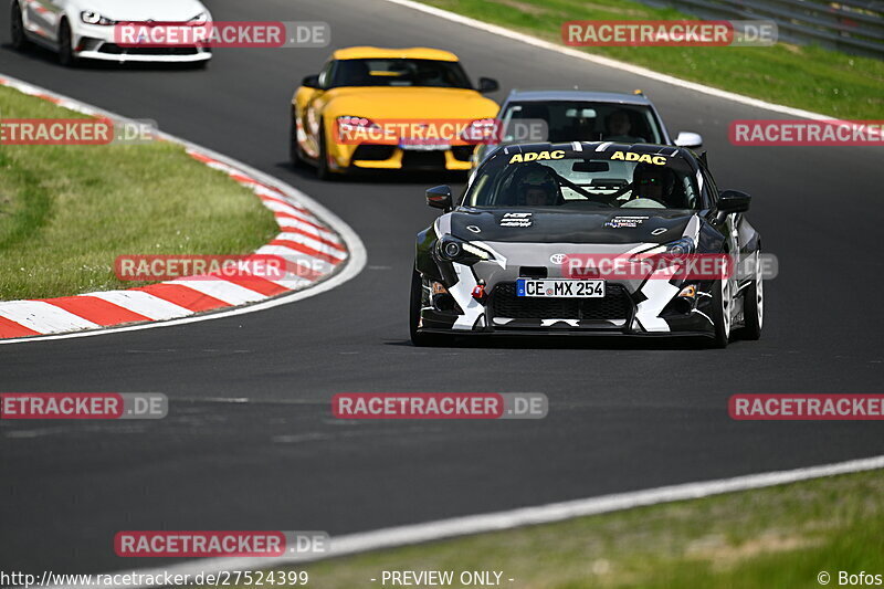
[[[80,118],[0,87],[4,118]],[[117,255],[245,254],[276,233],[254,193],[176,145],[0,146],[0,299],[143,283]]]

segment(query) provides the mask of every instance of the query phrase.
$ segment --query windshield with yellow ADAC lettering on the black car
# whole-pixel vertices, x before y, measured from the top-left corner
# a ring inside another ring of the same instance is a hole
[[[467,207],[557,209],[698,209],[699,202],[696,179],[681,156],[513,148],[498,150],[478,169],[463,200]]]

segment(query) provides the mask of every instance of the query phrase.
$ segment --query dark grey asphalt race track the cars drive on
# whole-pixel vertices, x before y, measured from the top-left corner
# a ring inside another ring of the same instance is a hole
[[[215,19],[323,20],[333,45],[450,48],[511,87],[643,88],[672,130],[701,132],[719,187],[780,276],[760,341],[726,350],[641,340],[408,341],[413,235],[431,176],[319,182],[286,164],[287,102],[330,51],[219,50],[208,71],[65,70],[12,52],[0,72],[238,158],[303,189],[368,250],[319,296],[186,326],[0,347],[3,391],[159,391],[159,422],[0,422],[0,569],[99,572],[162,560],[113,554],[120,529],[330,534],[884,453],[873,422],[735,422],[734,393],[881,392],[882,151],[747,148],[734,118],[785,118],[524,46],[380,0],[210,2]],[[723,50],[726,51],[726,50]],[[545,392],[549,417],[344,422],[337,392]],[[249,399],[248,402],[224,402]]]

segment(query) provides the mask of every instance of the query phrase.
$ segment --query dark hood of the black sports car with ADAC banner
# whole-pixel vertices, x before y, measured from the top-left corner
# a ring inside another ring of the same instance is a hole
[[[459,209],[440,218],[442,232],[463,240],[523,243],[667,243],[681,239],[696,211],[619,209]]]

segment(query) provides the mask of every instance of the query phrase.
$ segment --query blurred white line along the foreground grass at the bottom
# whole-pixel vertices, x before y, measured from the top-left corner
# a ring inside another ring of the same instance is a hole
[[[360,532],[357,534],[346,534],[332,537],[332,549],[324,554],[299,554],[282,558],[203,558],[189,560],[180,565],[170,565],[164,568],[134,569],[118,571],[119,575],[141,575],[141,576],[162,576],[167,571],[169,575],[191,575],[199,572],[218,574],[225,570],[257,570],[276,568],[285,565],[311,562],[324,560],[326,558],[337,558],[369,550],[381,550],[386,548],[397,548],[428,541],[444,540],[474,534],[485,534],[490,532],[501,532],[524,526],[538,524],[551,524],[564,522],[575,517],[587,517],[613,512],[622,512],[635,507],[646,507],[662,503],[673,503],[677,501],[690,501],[725,493],[736,493],[739,491],[751,491],[766,488],[811,478],[824,476],[835,476],[839,474],[859,473],[884,469],[884,455],[867,459],[850,460],[822,464],[819,466],[808,466],[790,471],[774,471],[759,474],[748,474],[734,476],[730,478],[716,478],[713,481],[702,481],[697,483],[684,483],[678,485],[649,488],[645,491],[631,491],[628,493],[614,493],[573,499],[560,503],[549,503],[534,507],[520,507],[505,512],[492,512],[487,514],[466,515],[450,519],[439,519],[390,528],[377,529],[373,532]],[[93,587],[95,587],[93,585]],[[138,589],[138,585],[114,586],[119,589]],[[80,589],[80,586],[66,586],[67,589]],[[60,589],[60,588],[52,588]]]

